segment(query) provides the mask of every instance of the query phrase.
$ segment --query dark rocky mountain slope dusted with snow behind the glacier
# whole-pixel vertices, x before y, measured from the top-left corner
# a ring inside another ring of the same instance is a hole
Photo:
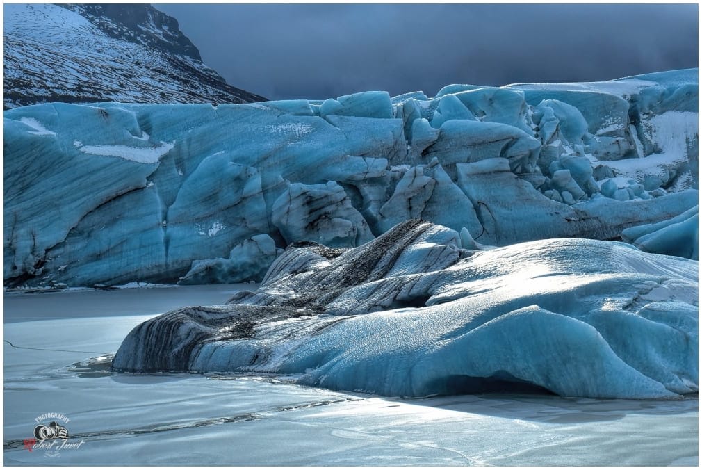
[[[251,103],[202,63],[178,22],[146,4],[4,5],[4,107]]]

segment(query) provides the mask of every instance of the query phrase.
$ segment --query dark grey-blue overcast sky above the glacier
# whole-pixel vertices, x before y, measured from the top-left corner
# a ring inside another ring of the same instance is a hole
[[[204,63],[269,99],[697,67],[696,4],[156,4]]]

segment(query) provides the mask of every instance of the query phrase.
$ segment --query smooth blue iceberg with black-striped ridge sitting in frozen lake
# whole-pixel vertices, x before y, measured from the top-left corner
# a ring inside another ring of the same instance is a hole
[[[573,238],[475,248],[418,219],[356,248],[291,244],[256,292],[135,327],[112,368],[403,397],[697,391],[697,261]]]

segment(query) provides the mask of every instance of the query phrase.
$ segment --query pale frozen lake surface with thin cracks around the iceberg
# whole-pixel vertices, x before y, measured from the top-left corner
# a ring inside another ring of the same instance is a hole
[[[138,323],[223,303],[216,285],[4,296],[6,465],[696,465],[698,400],[402,400],[294,377],[112,374]],[[13,346],[11,346],[11,343]],[[35,419],[79,448],[29,452]]]

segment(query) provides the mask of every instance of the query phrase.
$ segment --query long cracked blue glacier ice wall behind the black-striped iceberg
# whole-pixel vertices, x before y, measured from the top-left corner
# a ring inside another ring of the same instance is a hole
[[[618,239],[696,206],[697,96],[694,69],[431,99],[19,107],[4,115],[4,279],[255,279],[263,236],[356,247],[409,218],[489,245]]]

